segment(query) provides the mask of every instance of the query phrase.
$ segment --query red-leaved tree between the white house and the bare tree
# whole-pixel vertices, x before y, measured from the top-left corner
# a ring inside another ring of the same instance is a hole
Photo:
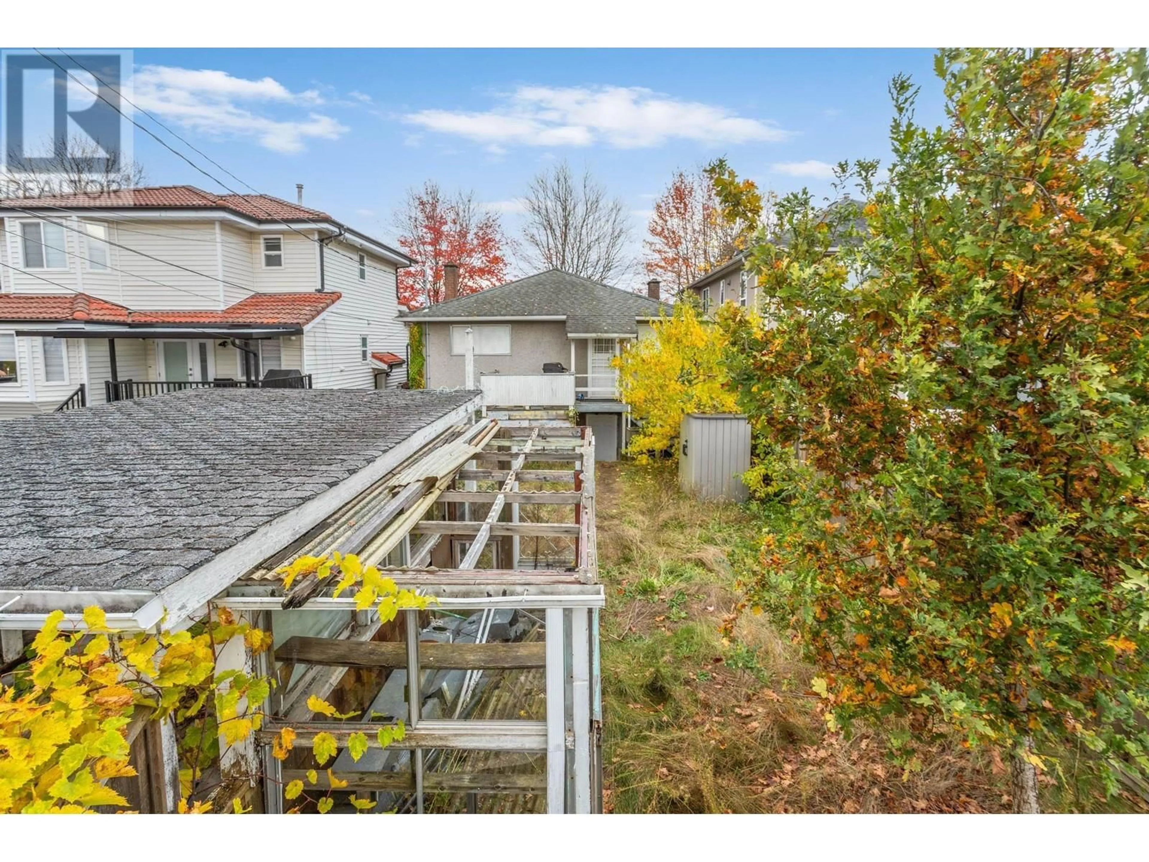
[[[507,280],[504,237],[499,215],[484,209],[473,192],[447,195],[433,180],[410,188],[395,210],[399,246],[416,263],[399,270],[399,301],[425,308],[444,300],[444,264],[458,264],[458,295]]]

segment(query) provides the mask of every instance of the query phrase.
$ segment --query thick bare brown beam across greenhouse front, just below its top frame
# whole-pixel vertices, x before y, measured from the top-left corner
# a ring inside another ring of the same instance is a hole
[[[276,661],[334,668],[403,668],[407,645],[296,636],[276,649]],[[545,663],[541,642],[419,644],[419,667],[427,670],[511,670],[541,668]]]

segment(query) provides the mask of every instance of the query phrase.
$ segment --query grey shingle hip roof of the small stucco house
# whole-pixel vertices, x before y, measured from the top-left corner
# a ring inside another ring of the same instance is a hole
[[[569,334],[637,334],[637,321],[668,315],[671,307],[639,293],[548,269],[469,297],[401,315],[409,321],[444,317],[563,317]]]

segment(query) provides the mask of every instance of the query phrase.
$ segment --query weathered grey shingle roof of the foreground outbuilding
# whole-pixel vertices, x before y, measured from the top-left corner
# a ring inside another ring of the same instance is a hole
[[[0,422],[0,588],[161,590],[476,394],[192,390]]]

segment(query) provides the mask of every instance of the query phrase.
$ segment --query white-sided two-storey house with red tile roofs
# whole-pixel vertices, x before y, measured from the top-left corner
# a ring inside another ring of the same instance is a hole
[[[56,409],[80,385],[88,405],[269,371],[295,371],[299,386],[400,386],[395,275],[410,263],[261,194],[0,200],[0,417]]]

